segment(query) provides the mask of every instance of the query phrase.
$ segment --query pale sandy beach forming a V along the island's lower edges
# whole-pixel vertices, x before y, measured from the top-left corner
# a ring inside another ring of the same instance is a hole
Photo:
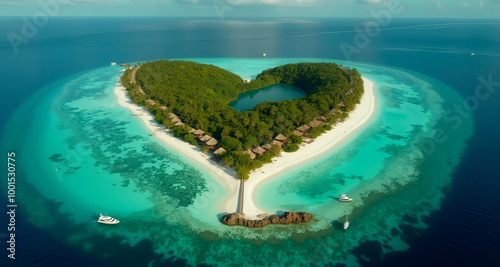
[[[266,164],[262,168],[250,174],[250,178],[245,183],[244,196],[244,213],[247,216],[255,216],[264,213],[264,211],[260,210],[255,205],[254,201],[255,190],[259,184],[291,166],[310,160],[313,157],[333,149],[342,140],[350,134],[356,132],[363,124],[369,121],[375,112],[375,96],[373,93],[373,83],[366,78],[363,78],[363,81],[365,94],[361,99],[361,103],[350,114],[347,120],[343,123],[339,123],[333,130],[316,138],[312,144],[305,144],[304,146],[301,146],[297,152],[282,152],[282,156],[273,159],[273,163]],[[231,193],[225,200],[225,203],[223,203],[220,212],[232,213],[237,211],[239,179],[236,178],[236,174],[232,169],[224,168],[218,165],[209,159],[210,156],[202,153],[199,147],[195,147],[181,141],[170,134],[165,127],[158,124],[154,120],[153,115],[150,114],[145,107],[132,102],[127,90],[122,86],[120,78],[118,78],[116,82],[114,93],[118,97],[118,103],[129,109],[131,114],[143,114],[141,116],[137,116],[137,118],[142,120],[146,128],[148,128],[151,133],[156,133],[155,138],[158,138],[167,146],[181,153],[185,157],[195,161],[199,166],[203,166],[224,184],[224,186]]]

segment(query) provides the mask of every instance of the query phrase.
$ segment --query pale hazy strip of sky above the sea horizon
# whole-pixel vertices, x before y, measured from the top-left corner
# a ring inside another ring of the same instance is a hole
[[[500,0],[0,0],[0,16],[497,18]]]

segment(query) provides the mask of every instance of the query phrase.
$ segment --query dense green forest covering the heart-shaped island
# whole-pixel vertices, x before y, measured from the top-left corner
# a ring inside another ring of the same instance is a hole
[[[191,128],[202,129],[216,138],[218,146],[227,150],[221,156],[222,162],[233,166],[242,179],[280,153],[279,147],[274,146],[252,160],[242,153],[244,150],[268,144],[280,133],[291,137],[298,126],[324,116],[326,123],[308,132],[315,138],[345,119],[363,94],[359,72],[334,63],[288,64],[265,70],[255,80],[244,83],[236,74],[216,66],[159,60],[127,69],[122,82],[134,102],[146,106],[158,122],[172,128],[186,142],[197,143],[189,133]],[[301,88],[306,96],[260,103],[245,112],[233,111],[227,105],[239,93],[279,82]],[[168,109],[162,110],[161,106]],[[176,114],[186,126],[174,126],[169,113]],[[302,139],[297,136],[288,138],[283,149],[295,151],[300,142]]]

